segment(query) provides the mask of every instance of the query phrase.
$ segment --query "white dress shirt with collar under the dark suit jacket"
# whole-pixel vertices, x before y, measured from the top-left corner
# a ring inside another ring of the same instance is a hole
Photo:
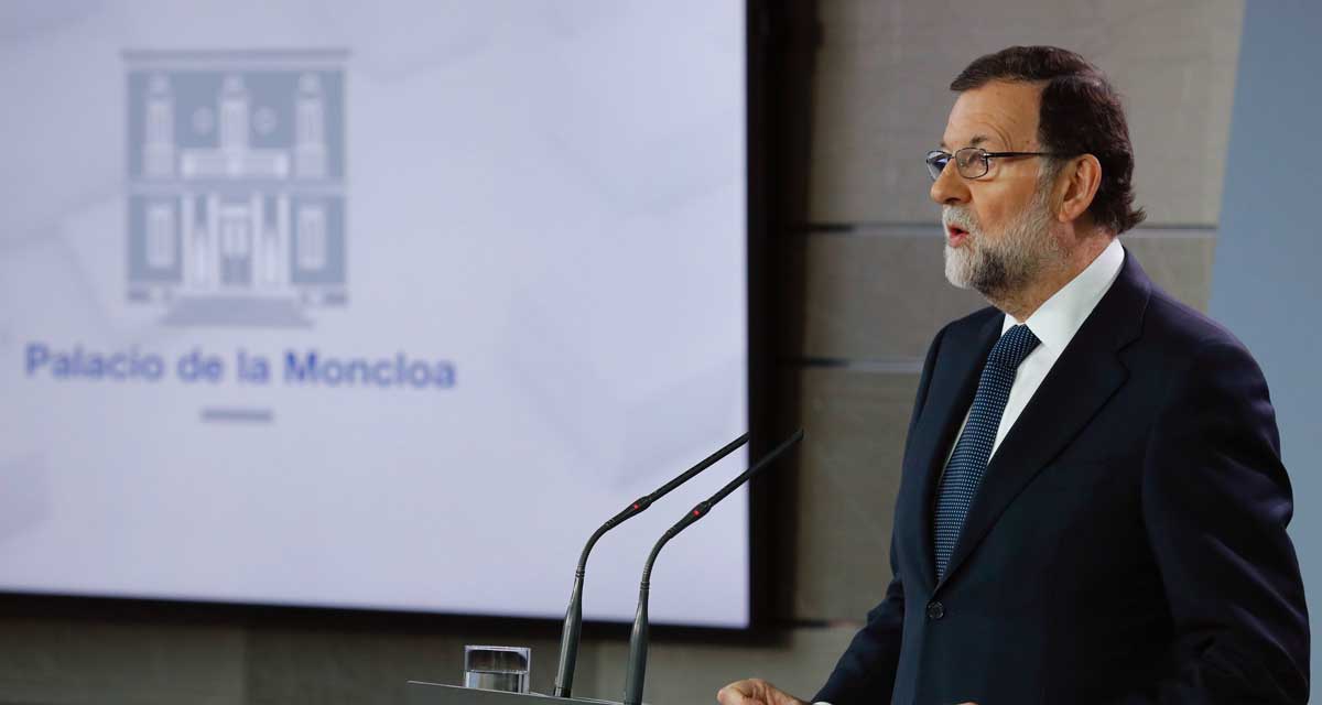
[[[992,456],[995,456],[997,448],[1001,447],[1001,440],[1005,439],[1005,435],[1014,426],[1023,407],[1029,406],[1029,399],[1042,386],[1042,380],[1047,377],[1060,353],[1073,340],[1083,321],[1087,320],[1092,310],[1097,307],[1097,302],[1110,290],[1110,284],[1116,282],[1116,276],[1120,276],[1120,267],[1124,263],[1125,249],[1120,246],[1118,238],[1112,238],[1110,245],[1107,245],[1107,249],[1087,269],[1071,279],[1068,284],[1060,287],[1060,291],[1051,295],[1050,299],[1029,316],[1029,320],[1019,321],[1009,313],[1005,315],[1005,321],[1001,324],[1001,335],[1005,335],[1010,327],[1023,323],[1032,331],[1032,335],[1038,336],[1040,343],[1023,358],[1023,362],[1019,362],[1019,369],[1014,374],[1010,398],[1005,402],[1005,413],[1001,414],[1001,426],[995,431],[995,443],[992,444]],[[964,423],[966,425],[968,422],[969,414],[965,411]],[[964,425],[960,426],[960,434],[964,434]],[[958,444],[958,436],[956,436],[954,443]],[[951,454],[953,452],[954,446],[951,446],[951,452],[945,456],[947,463],[949,463]]]

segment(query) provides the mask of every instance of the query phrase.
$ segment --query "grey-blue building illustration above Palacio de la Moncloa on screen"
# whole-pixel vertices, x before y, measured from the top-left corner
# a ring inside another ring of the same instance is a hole
[[[346,290],[345,52],[126,52],[128,299],[309,325]]]

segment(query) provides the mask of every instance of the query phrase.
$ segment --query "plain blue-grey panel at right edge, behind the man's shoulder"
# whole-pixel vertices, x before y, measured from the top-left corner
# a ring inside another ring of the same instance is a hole
[[[1216,246],[1211,313],[1253,351],[1272,390],[1281,455],[1294,484],[1290,536],[1317,635],[1322,590],[1322,172],[1301,156],[1318,139],[1322,5],[1249,3]],[[1313,677],[1322,648],[1313,647]]]

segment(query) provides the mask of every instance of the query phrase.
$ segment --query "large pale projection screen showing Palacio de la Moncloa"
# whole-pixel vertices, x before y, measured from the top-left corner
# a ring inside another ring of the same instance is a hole
[[[0,15],[0,591],[555,618],[747,430],[743,3]],[[653,620],[747,626],[748,538]]]

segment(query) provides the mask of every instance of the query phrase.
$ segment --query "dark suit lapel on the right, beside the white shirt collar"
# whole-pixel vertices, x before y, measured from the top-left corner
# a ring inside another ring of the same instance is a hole
[[[1126,250],[1114,284],[1051,366],[992,456],[941,585],[956,573],[1025,485],[1079,435],[1125,382],[1129,373],[1117,352],[1137,337],[1149,291],[1147,276]],[[953,411],[956,427],[969,403],[972,393],[969,401]],[[951,438],[949,443],[953,442]],[[932,484],[935,488],[935,481]],[[931,508],[928,513],[931,516]],[[931,542],[928,538],[928,545]],[[940,585],[936,587],[940,589]]]

